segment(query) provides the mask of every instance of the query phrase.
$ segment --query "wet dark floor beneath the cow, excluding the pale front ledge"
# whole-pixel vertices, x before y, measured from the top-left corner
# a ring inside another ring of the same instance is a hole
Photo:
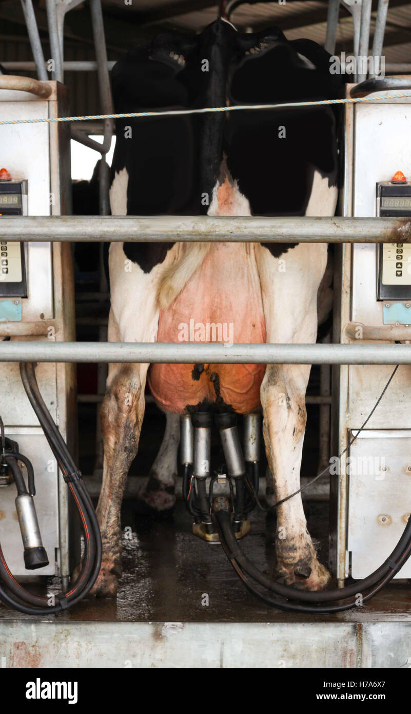
[[[328,504],[305,503],[308,528],[327,564]],[[251,533],[242,545],[265,573],[274,565],[275,520],[254,511]],[[411,584],[389,585],[370,603],[336,615],[283,613],[265,605],[245,589],[218,544],[191,533],[191,516],[178,501],[171,518],[155,521],[123,503],[123,577],[116,599],[87,598],[61,620],[140,622],[370,622],[411,620]],[[58,591],[49,582],[48,590]],[[208,604],[205,604],[208,603]],[[53,616],[54,618],[55,616]],[[26,619],[0,605],[0,619]]]

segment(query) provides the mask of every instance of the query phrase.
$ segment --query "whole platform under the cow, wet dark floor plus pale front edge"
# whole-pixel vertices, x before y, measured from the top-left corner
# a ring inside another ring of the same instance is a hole
[[[326,563],[328,504],[305,511]],[[167,521],[136,516],[132,501],[122,516],[132,537],[123,538],[117,598],[88,598],[49,618],[0,605],[2,668],[411,668],[410,585],[347,613],[282,613],[245,590],[220,545],[194,538],[181,501]],[[253,513],[243,540],[268,573],[273,525]],[[58,588],[48,583],[47,592]]]

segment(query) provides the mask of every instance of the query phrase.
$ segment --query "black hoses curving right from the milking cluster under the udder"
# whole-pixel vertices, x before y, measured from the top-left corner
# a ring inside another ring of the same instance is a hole
[[[254,595],[257,595],[260,600],[263,600],[268,605],[273,605],[273,607],[279,610],[288,610],[290,612],[300,612],[300,613],[338,613],[342,610],[351,610],[352,608],[362,605],[367,600],[370,600],[376,593],[378,593],[381,588],[392,580],[395,573],[397,573],[402,565],[404,565],[407,558],[409,558],[411,553],[411,518],[407,521],[407,526],[405,526],[404,532],[401,535],[400,540],[392,550],[391,555],[380,565],[380,568],[374,570],[371,575],[363,580],[356,580],[352,585],[347,585],[345,588],[338,588],[335,590],[325,590],[322,592],[307,592],[305,590],[297,590],[296,588],[290,587],[290,585],[282,585],[281,583],[276,583],[274,580],[267,578],[264,573],[261,573],[255,565],[248,560],[247,556],[238,545],[238,540],[235,538],[235,533],[231,525],[230,513],[227,510],[219,510],[214,513],[215,523],[218,528],[218,533],[220,535],[220,542],[223,545],[223,550],[225,555],[227,555],[228,560],[230,560],[231,565],[237,573],[240,580],[243,581],[244,585],[248,590],[250,590]],[[248,577],[247,577],[248,576]],[[250,580],[251,578],[251,580]],[[254,583],[263,585],[263,587],[271,590],[273,593],[280,595],[288,600],[299,600],[300,603],[295,602],[285,602],[283,600],[276,600],[275,598],[268,597],[257,590],[254,587]],[[368,593],[362,593],[361,590],[367,590],[372,588]],[[361,595],[360,600],[358,595]],[[333,600],[345,600],[345,598],[352,598],[348,603],[342,603],[340,605],[325,605]],[[303,602],[313,603],[310,605],[301,604]],[[315,605],[315,603],[319,603]]]

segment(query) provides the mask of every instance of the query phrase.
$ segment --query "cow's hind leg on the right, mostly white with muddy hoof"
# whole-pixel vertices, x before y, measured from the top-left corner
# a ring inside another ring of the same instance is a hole
[[[258,246],[256,253],[267,341],[315,342],[317,291],[327,246],[300,244],[280,258],[270,255],[263,246]],[[273,474],[275,501],[300,488],[309,375],[309,365],[268,365],[261,385],[265,451]],[[300,493],[277,509],[275,549],[277,574],[286,583],[309,590],[325,588],[330,576],[315,554]]]

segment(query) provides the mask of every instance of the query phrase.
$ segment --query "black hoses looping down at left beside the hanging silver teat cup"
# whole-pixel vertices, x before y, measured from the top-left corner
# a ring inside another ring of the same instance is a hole
[[[84,555],[76,582],[71,585],[67,593],[59,593],[54,596],[55,605],[48,605],[51,599],[50,595],[46,597],[33,595],[15,580],[7,567],[0,545],[0,600],[27,615],[49,615],[76,605],[93,587],[101,567],[101,535],[96,512],[82,481],[81,473],[76,468],[64,438],[51,418],[39,391],[34,365],[20,363],[20,375],[31,406],[39,419],[51,451],[63,473],[64,481],[66,481],[78,508],[84,533]],[[11,456],[20,458],[17,454]]]

